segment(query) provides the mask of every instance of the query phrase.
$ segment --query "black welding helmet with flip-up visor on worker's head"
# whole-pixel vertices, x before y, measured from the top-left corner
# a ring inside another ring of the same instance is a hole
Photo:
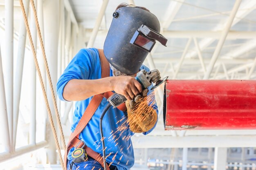
[[[132,75],[139,71],[156,40],[166,46],[157,17],[138,7],[121,7],[113,20],[104,42],[108,62],[117,70]]]

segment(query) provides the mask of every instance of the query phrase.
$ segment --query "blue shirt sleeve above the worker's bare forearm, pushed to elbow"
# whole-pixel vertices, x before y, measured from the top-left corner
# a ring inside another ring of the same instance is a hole
[[[67,82],[71,79],[89,79],[90,75],[94,72],[95,51],[93,49],[81,49],[75,57],[68,64],[61,77],[56,84],[56,91],[58,97],[62,101],[66,101],[63,98],[63,90]]]

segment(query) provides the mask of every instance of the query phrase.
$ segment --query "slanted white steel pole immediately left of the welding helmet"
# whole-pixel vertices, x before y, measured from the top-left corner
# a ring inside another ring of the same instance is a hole
[[[89,39],[88,44],[87,44],[87,48],[92,48],[93,47],[94,41],[95,41],[97,33],[99,31],[99,26],[101,25],[103,15],[105,14],[106,8],[108,6],[108,1],[109,0],[103,0],[103,2],[102,2],[101,9],[99,11],[99,15],[97,17],[96,23],[94,25],[94,28],[92,30],[90,39]]]

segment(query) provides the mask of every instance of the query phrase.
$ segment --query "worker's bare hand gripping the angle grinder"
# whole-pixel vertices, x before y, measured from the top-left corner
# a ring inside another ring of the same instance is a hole
[[[111,86],[113,91],[125,96],[129,101],[142,91],[141,84],[134,77],[125,75],[112,77]]]

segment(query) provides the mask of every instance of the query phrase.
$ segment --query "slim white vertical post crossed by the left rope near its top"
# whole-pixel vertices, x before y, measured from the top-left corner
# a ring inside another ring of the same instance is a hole
[[[34,0],[35,7],[37,7],[37,0]],[[32,8],[30,9],[33,10]],[[36,32],[36,22],[34,16],[30,15],[30,31],[32,36],[32,41],[34,43],[34,48],[37,49],[37,32]],[[30,58],[30,124],[29,124],[29,144],[36,144],[36,66],[34,63],[33,54]]]

